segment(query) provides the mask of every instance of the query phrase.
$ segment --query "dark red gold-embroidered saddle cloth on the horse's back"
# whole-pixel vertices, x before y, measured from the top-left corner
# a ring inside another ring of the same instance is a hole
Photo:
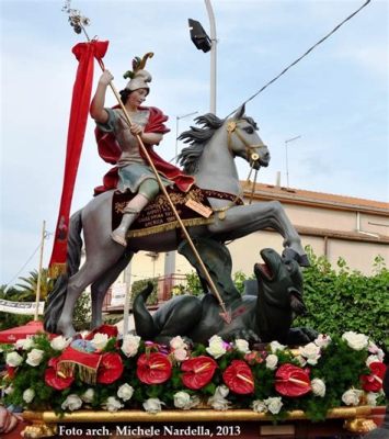
[[[241,199],[236,200],[236,195],[231,193],[218,192],[208,189],[201,189],[193,185],[188,192],[181,192],[175,187],[167,188],[170,199],[172,200],[180,218],[185,226],[197,226],[210,224],[214,222],[214,215],[205,217],[198,212],[191,209],[191,201],[195,205],[204,207],[204,211],[210,210],[208,198],[233,201],[234,205],[242,205]],[[112,202],[112,228],[116,228],[123,216],[123,211],[126,204],[135,196],[131,192],[121,193],[116,191]],[[169,204],[169,201],[160,193],[156,199],[150,202],[140,213],[138,218],[133,223],[128,230],[128,238],[152,235],[165,230],[179,228],[180,224],[176,221],[174,213]]]

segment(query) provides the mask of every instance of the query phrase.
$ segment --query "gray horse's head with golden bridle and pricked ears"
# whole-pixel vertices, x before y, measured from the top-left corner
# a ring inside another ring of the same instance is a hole
[[[258,135],[259,127],[254,120],[244,114],[242,105],[232,117],[225,122],[228,149],[233,157],[242,157],[252,168],[267,167],[271,155],[267,146]]]

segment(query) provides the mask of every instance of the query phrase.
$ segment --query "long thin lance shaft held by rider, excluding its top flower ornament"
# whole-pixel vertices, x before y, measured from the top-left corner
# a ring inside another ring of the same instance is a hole
[[[83,26],[82,26],[82,29],[83,29]],[[83,29],[83,31],[84,31],[84,29]],[[87,34],[85,31],[84,31],[84,33],[85,33],[85,35],[87,35],[88,41],[90,42],[90,38],[89,38],[89,36],[88,36],[88,34]],[[98,58],[98,61],[99,61],[99,66],[100,66],[101,69],[104,71],[104,70],[105,70],[104,63],[103,63],[101,59],[99,59],[99,58]],[[122,102],[121,95],[119,95],[119,93],[117,92],[116,87],[113,85],[112,81],[110,82],[110,87],[111,87],[113,93],[115,94],[115,98],[116,98],[116,100],[117,100],[117,102],[118,102],[121,109],[123,110],[123,113],[124,113],[124,116],[125,116],[125,119],[126,119],[126,122],[127,122],[128,126],[131,126],[131,124],[133,124],[133,123],[131,123],[131,120],[129,119],[129,115],[128,115],[128,113],[127,113],[127,110],[126,110],[125,105],[124,105],[123,102]],[[184,234],[184,236],[185,236],[185,239],[186,239],[187,243],[190,244],[190,246],[191,246],[191,248],[192,248],[192,251],[193,251],[195,258],[197,259],[197,262],[199,263],[199,267],[201,267],[201,269],[202,269],[202,271],[203,271],[203,274],[205,275],[205,278],[206,278],[207,282],[208,282],[208,285],[209,285],[211,292],[214,293],[214,295],[216,296],[216,299],[217,299],[218,302],[219,302],[219,305],[220,305],[220,307],[221,307],[221,309],[222,309],[221,317],[222,317],[227,323],[230,323],[230,322],[231,322],[231,316],[229,315],[229,313],[228,313],[228,311],[227,311],[227,308],[226,308],[226,305],[225,305],[225,303],[224,303],[224,301],[222,301],[222,299],[221,299],[219,292],[217,291],[217,288],[216,288],[216,285],[215,285],[215,282],[214,282],[213,279],[210,278],[210,274],[209,274],[207,268],[205,267],[205,264],[204,264],[204,262],[203,262],[203,260],[202,260],[202,258],[201,258],[201,256],[199,256],[199,254],[198,254],[198,251],[197,251],[195,245],[193,244],[193,240],[192,240],[190,234],[187,233],[187,229],[186,229],[186,227],[185,227],[185,224],[184,224],[183,221],[181,219],[181,217],[180,217],[180,215],[179,215],[179,212],[176,211],[176,209],[175,209],[175,206],[174,206],[174,203],[172,202],[172,200],[171,200],[171,198],[170,198],[170,195],[169,195],[169,193],[168,193],[168,191],[167,191],[167,188],[164,187],[164,184],[163,184],[163,182],[162,182],[162,180],[161,180],[161,178],[160,178],[160,176],[159,176],[159,173],[158,173],[158,170],[157,170],[155,164],[153,164],[152,160],[151,160],[151,157],[150,157],[150,155],[149,155],[149,153],[148,153],[148,150],[147,150],[147,148],[146,148],[146,146],[145,146],[145,144],[144,144],[144,140],[141,139],[141,137],[139,136],[139,134],[136,135],[136,138],[137,138],[137,140],[138,140],[138,143],[139,143],[139,146],[140,146],[141,151],[144,153],[144,155],[145,155],[145,157],[146,157],[148,164],[150,165],[150,167],[151,167],[151,169],[152,169],[152,171],[153,171],[153,173],[155,173],[155,176],[156,176],[156,179],[157,179],[157,181],[158,181],[159,187],[161,188],[161,191],[162,191],[163,195],[167,198],[167,200],[168,200],[168,202],[169,202],[169,204],[170,204],[170,207],[171,207],[171,210],[173,211],[173,214],[174,214],[174,216],[175,216],[178,223],[180,224],[180,227],[181,227],[181,229],[182,229],[182,232],[183,232],[183,234]]]

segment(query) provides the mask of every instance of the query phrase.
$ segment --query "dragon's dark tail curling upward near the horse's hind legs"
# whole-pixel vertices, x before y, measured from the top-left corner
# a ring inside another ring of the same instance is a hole
[[[147,297],[151,294],[153,285],[149,282],[134,300],[133,314],[135,329],[138,336],[144,340],[152,340],[158,335],[156,323],[146,307]]]

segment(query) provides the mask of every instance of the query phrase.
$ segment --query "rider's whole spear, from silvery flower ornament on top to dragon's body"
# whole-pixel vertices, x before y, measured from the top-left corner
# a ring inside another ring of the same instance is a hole
[[[87,37],[87,41],[90,43],[91,38],[89,37],[89,35],[88,35],[88,33],[85,31],[85,26],[90,24],[90,20],[87,16],[83,16],[80,11],[71,9],[70,8],[70,0],[66,1],[65,7],[62,8],[62,11],[65,11],[65,12],[67,12],[69,14],[69,23],[73,27],[75,32],[77,34],[80,34],[81,32],[83,32],[85,37]],[[104,71],[105,70],[105,66],[104,66],[103,61],[98,58],[98,63],[99,63],[99,66],[101,67],[101,69]],[[114,95],[115,95],[115,98],[117,100],[117,103],[119,104],[121,109],[123,110],[123,113],[124,113],[124,116],[125,116],[125,120],[126,120],[128,126],[131,126],[131,120],[130,120],[130,117],[128,115],[128,112],[127,112],[126,108],[124,106],[124,104],[122,102],[122,99],[121,99],[121,95],[117,92],[117,90],[116,90],[116,88],[115,88],[115,86],[113,85],[112,81],[110,82],[110,88],[113,91],[113,93],[114,93]],[[138,144],[140,146],[140,149],[141,149],[144,156],[146,157],[150,168],[152,169],[152,171],[153,171],[153,173],[156,176],[156,179],[158,181],[158,184],[159,184],[163,195],[167,198],[167,200],[168,200],[168,202],[170,204],[170,207],[171,207],[171,210],[172,210],[178,223],[180,224],[180,227],[181,227],[181,229],[182,229],[182,232],[183,232],[183,234],[185,236],[185,239],[190,244],[190,246],[192,248],[192,251],[193,251],[195,258],[197,259],[197,262],[199,263],[199,267],[201,267],[201,269],[203,271],[203,274],[205,275],[205,279],[208,282],[209,289],[211,290],[213,294],[215,295],[215,297],[219,302],[219,305],[220,305],[221,311],[222,311],[220,313],[220,317],[227,324],[230,324],[231,320],[232,320],[231,313],[229,313],[227,311],[226,304],[222,301],[219,292],[217,291],[217,288],[216,288],[216,285],[215,285],[215,283],[213,281],[213,279],[210,278],[207,268],[205,267],[205,264],[204,264],[204,262],[203,262],[203,260],[202,260],[202,258],[201,258],[195,245],[193,244],[193,240],[192,240],[190,234],[187,233],[187,229],[186,229],[184,223],[182,222],[182,219],[180,217],[179,212],[176,211],[176,209],[174,206],[174,203],[172,202],[172,200],[171,200],[171,198],[170,198],[164,184],[162,183],[162,180],[161,180],[161,178],[160,178],[160,176],[158,173],[158,170],[157,170],[155,164],[152,162],[151,157],[150,157],[150,155],[149,155],[149,153],[148,153],[148,150],[147,150],[141,137],[137,134],[136,138],[138,140]]]

